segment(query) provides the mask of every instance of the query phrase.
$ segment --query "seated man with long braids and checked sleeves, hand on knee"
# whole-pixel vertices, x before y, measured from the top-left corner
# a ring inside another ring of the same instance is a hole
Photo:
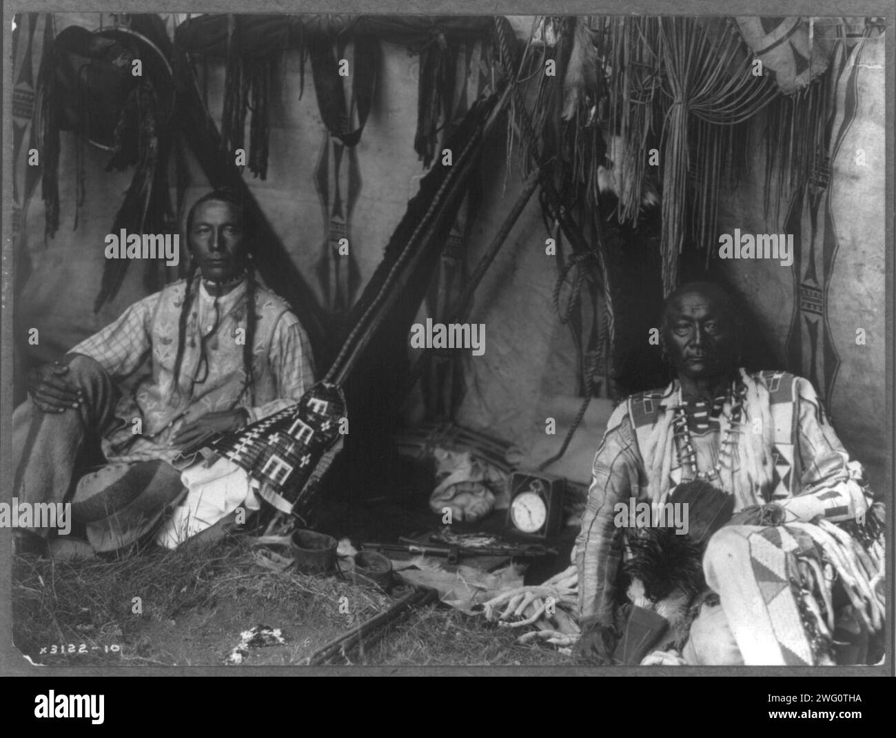
[[[174,547],[244,500],[259,507],[235,465],[181,455],[293,405],[314,379],[297,317],[255,282],[249,236],[234,194],[203,195],[186,219],[186,278],[28,377],[30,399],[13,415],[15,491],[25,502],[71,496],[95,551],[140,539],[184,496],[160,545]],[[91,440],[106,463],[79,478]],[[31,533],[44,541],[30,536],[24,547],[43,547],[47,530]],[[50,541],[50,553],[72,547]]]

